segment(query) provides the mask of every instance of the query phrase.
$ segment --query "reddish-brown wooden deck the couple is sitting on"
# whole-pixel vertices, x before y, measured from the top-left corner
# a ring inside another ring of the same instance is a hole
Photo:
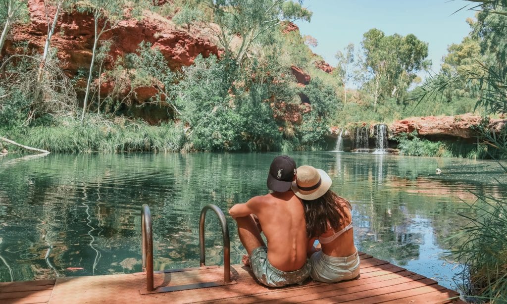
[[[326,284],[267,288],[252,278],[250,269],[232,265],[237,284],[168,293],[141,294],[142,274],[66,277],[55,280],[0,283],[0,303],[451,303],[459,294],[387,261],[361,253],[360,277]],[[155,275],[155,286],[223,281],[222,267]]]

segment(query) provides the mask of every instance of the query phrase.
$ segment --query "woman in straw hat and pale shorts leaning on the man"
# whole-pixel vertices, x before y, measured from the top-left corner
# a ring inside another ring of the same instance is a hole
[[[312,166],[297,169],[292,189],[305,206],[311,277],[333,283],[359,275],[359,256],[354,246],[350,203],[330,190],[331,178]],[[322,250],[313,247],[319,240]]]

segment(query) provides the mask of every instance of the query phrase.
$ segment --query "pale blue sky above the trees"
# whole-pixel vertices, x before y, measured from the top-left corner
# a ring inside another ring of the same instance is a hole
[[[386,35],[415,34],[427,42],[432,70],[438,71],[447,46],[460,43],[470,31],[466,18],[474,12],[460,8],[470,5],[463,0],[305,0],[303,6],[313,12],[311,22],[298,21],[301,35],[317,39],[312,51],[336,66],[335,54],[353,43],[360,47],[363,34],[378,28]],[[424,74],[421,74],[424,77]]]

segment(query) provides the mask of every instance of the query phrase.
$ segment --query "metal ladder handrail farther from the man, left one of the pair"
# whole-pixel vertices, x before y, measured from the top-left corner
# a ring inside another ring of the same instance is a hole
[[[152,214],[147,204],[141,209],[141,235],[142,235],[142,269],[146,271],[146,290],[153,287],[153,233]]]

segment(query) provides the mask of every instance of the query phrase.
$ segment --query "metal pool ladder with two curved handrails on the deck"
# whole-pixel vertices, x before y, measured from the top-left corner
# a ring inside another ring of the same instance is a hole
[[[224,282],[205,282],[187,285],[165,286],[155,288],[153,283],[154,273],[174,273],[182,271],[198,271],[202,269],[218,268],[218,266],[206,266],[206,256],[204,251],[204,220],[206,219],[206,212],[212,210],[219,217],[220,225],[222,227],[222,237],[224,239]],[[178,290],[214,287],[236,284],[236,281],[231,280],[231,245],[229,238],[229,226],[225,218],[224,212],[212,204],[204,206],[201,210],[199,218],[199,249],[200,249],[200,266],[197,268],[153,271],[153,232],[152,232],[152,215],[150,207],[143,204],[141,208],[141,235],[142,235],[142,269],[146,272],[146,292],[139,290],[141,294],[157,293],[157,292],[171,292]]]

